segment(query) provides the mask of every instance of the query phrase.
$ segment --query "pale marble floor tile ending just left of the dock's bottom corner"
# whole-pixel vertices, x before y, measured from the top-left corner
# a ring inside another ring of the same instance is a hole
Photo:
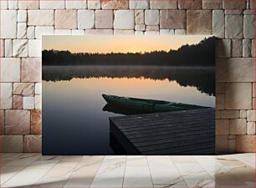
[[[126,156],[105,156],[90,187],[121,187],[125,174]]]

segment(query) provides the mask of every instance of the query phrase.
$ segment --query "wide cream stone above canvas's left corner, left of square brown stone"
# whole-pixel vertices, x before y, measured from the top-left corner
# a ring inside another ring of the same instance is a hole
[[[54,10],[28,10],[28,26],[53,26]]]

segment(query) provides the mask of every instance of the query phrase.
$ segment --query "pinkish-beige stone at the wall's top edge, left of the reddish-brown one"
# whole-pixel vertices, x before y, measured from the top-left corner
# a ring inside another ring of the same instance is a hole
[[[177,0],[150,0],[151,9],[177,9]]]

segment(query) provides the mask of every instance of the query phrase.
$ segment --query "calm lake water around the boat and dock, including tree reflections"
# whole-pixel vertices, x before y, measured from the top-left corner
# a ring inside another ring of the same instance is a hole
[[[44,66],[43,153],[115,155],[101,94],[214,107],[214,68]]]

